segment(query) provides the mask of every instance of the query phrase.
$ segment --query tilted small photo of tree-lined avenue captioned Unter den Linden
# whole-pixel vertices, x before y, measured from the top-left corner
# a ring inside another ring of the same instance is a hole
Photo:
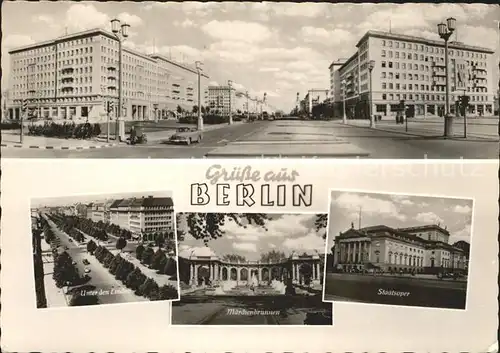
[[[179,300],[171,192],[34,199],[37,308]]]

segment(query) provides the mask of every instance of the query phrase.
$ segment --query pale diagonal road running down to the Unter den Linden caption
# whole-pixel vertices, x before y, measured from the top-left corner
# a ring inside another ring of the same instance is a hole
[[[99,304],[116,304],[116,303],[131,303],[137,301],[147,301],[146,298],[137,296],[131,292],[123,283],[118,281],[97,259],[87,253],[85,245],[77,245],[71,242],[69,236],[62,232],[51,220],[48,221],[49,225],[54,230],[54,234],[61,240],[61,245],[68,247],[66,250],[71,256],[81,275],[85,273],[85,268],[90,269],[90,281],[85,286],[93,286],[97,289],[114,290],[119,293],[112,295],[100,295]],[[83,260],[87,259],[89,265],[84,265]]]

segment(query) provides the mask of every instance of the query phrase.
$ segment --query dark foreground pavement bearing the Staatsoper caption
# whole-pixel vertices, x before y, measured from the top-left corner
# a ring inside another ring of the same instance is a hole
[[[466,295],[467,282],[461,280],[327,273],[324,300],[465,309]]]

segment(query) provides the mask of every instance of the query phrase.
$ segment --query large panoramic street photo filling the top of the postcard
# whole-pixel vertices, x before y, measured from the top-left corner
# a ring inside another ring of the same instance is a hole
[[[499,18],[480,3],[6,1],[2,155],[497,159]]]

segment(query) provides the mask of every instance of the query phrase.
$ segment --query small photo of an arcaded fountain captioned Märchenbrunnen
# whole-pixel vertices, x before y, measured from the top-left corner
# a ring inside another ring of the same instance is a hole
[[[179,213],[173,325],[333,325],[326,214]]]

